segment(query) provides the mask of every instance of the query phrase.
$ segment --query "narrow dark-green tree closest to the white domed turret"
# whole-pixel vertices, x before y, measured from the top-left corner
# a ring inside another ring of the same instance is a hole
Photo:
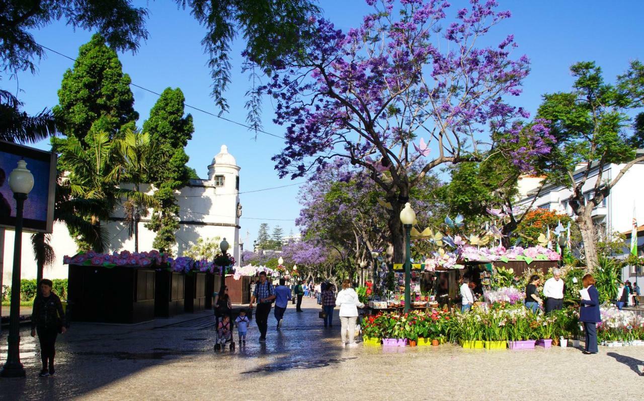
[[[146,225],[156,232],[153,247],[164,252],[171,250],[179,228],[175,191],[185,187],[191,176],[184,147],[193,136],[194,126],[191,115],[184,117],[184,101],[181,89],[166,88],[143,124],[143,131],[149,133],[153,141],[171,149],[164,167],[151,174],[151,183],[156,187],[154,196],[160,207],[153,211],[151,221]]]

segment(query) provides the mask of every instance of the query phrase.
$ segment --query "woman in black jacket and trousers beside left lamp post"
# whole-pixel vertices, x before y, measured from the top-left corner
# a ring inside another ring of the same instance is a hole
[[[39,286],[41,293],[36,295],[33,300],[32,337],[35,337],[37,333],[41,344],[41,359],[43,360],[41,377],[53,375],[56,337],[58,333],[65,333],[68,327],[61,299],[58,295],[53,294],[52,286],[51,280],[41,280]]]

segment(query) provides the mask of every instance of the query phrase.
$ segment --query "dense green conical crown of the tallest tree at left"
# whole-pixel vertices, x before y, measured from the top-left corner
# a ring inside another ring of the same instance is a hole
[[[108,138],[134,129],[138,113],[130,83],[116,51],[106,46],[101,35],[93,35],[81,46],[73,69],[65,71],[58,91],[59,106],[53,108],[67,122],[65,135],[87,147],[85,136],[91,129],[107,133]]]

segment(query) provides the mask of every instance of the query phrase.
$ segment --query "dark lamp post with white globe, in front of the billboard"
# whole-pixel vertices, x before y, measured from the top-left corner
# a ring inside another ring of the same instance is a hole
[[[11,306],[9,317],[8,351],[1,377],[24,377],[23,364],[20,362],[20,270],[23,247],[23,208],[27,195],[33,188],[33,174],[27,169],[24,160],[9,174],[9,187],[15,198],[15,238],[14,270],[11,281]]]

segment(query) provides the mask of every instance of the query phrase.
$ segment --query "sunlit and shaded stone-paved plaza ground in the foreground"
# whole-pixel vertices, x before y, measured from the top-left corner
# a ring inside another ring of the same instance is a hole
[[[21,333],[27,377],[0,378],[0,400],[621,400],[644,395],[644,347],[463,350],[341,348],[339,319],[318,306],[270,315],[265,344],[214,351],[212,312],[136,326],[77,323],[57,343],[55,377],[39,378],[39,346]],[[6,331],[0,363],[6,357]]]

